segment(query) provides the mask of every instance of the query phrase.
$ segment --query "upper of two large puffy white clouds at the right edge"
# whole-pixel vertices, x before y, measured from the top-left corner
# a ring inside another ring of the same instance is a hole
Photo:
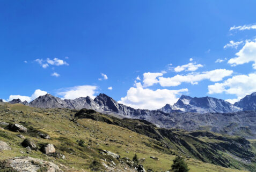
[[[256,42],[246,42],[243,48],[236,53],[236,56],[228,61],[231,66],[243,65],[253,61],[252,66],[256,69]]]

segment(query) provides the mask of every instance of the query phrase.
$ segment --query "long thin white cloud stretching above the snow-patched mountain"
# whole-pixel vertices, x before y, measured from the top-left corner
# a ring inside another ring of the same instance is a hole
[[[178,86],[182,82],[198,84],[202,80],[210,80],[213,82],[221,81],[223,77],[230,76],[233,71],[226,69],[215,69],[202,73],[190,73],[187,75],[175,75],[173,77],[158,77],[159,84],[162,87]]]

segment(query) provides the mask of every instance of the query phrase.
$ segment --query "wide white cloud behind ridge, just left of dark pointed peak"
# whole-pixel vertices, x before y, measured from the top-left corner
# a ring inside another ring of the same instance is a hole
[[[94,94],[97,89],[98,87],[94,85],[79,85],[71,88],[60,89],[57,95],[62,96],[63,99],[75,99],[87,96],[95,98],[96,96],[94,96]]]

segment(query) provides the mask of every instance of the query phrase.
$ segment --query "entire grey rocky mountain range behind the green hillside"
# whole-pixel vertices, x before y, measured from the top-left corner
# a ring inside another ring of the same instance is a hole
[[[30,103],[19,99],[13,99],[9,103],[40,108],[87,108],[119,118],[147,120],[163,128],[209,130],[256,138],[256,93],[246,96],[234,105],[213,97],[192,98],[182,95],[174,105],[166,104],[159,110],[134,109],[119,104],[104,93],[94,99],[81,97],[64,100],[47,94]]]

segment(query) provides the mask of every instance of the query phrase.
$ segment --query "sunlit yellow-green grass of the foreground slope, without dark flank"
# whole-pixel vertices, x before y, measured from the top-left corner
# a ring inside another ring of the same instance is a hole
[[[134,153],[137,153],[138,158],[145,158],[142,164],[146,170],[149,168],[154,171],[170,169],[175,156],[159,150],[157,148],[159,147],[157,140],[122,127],[90,119],[79,119],[79,126],[77,126],[76,123],[71,122],[69,119],[74,114],[75,112],[70,110],[42,110],[18,104],[0,104],[0,121],[13,123],[23,121],[26,122],[24,124],[26,127],[32,126],[37,130],[47,132],[51,136],[50,140],[31,137],[31,133],[23,135],[27,138],[32,138],[37,144],[54,144],[56,150],[65,155],[65,159],[62,160],[47,157],[40,151],[23,154],[21,151],[26,152],[25,148],[20,146],[23,139],[17,137],[16,132],[0,129],[0,140],[9,143],[12,147],[11,151],[3,151],[0,154],[0,160],[29,155],[34,158],[53,161],[56,164],[62,163],[67,167],[74,167],[76,170],[85,169],[90,171],[89,166],[94,159],[110,159],[105,155],[99,154],[99,149],[102,148],[119,153],[121,158],[128,157],[131,159]],[[86,147],[78,146],[76,142],[78,139],[84,139]],[[72,148],[75,152],[70,151],[68,148]],[[175,152],[175,150],[173,151]],[[157,157],[159,160],[153,160],[150,156]],[[239,171],[195,159],[187,159],[187,163],[191,171]]]

